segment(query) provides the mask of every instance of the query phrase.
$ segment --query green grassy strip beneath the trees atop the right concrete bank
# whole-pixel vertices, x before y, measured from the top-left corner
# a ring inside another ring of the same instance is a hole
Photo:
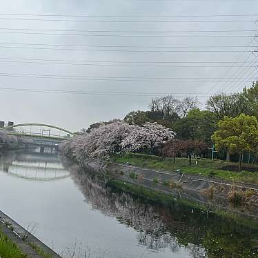
[[[128,153],[125,155],[114,155],[112,161],[117,163],[130,163],[133,166],[150,168],[153,170],[166,170],[175,172],[180,169],[181,172],[192,175],[202,175],[204,177],[215,177],[229,181],[243,183],[258,183],[258,168],[257,172],[232,172],[222,170],[225,166],[231,166],[235,163],[226,163],[226,161],[212,161],[209,159],[199,159],[197,163],[192,160],[192,166],[188,165],[188,159],[177,158],[174,164],[170,158],[162,158],[151,155]]]

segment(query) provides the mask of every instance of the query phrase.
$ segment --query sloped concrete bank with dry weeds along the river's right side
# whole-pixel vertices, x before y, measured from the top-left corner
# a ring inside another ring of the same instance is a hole
[[[170,194],[177,193],[181,198],[198,201],[203,204],[219,204],[224,208],[230,206],[228,196],[232,191],[248,191],[249,196],[246,199],[244,213],[255,217],[258,216],[258,186],[254,184],[232,183],[221,179],[150,170],[148,168],[99,160],[88,161],[85,163],[85,169],[108,173],[122,181],[145,186],[153,190]],[[170,181],[174,182],[173,186],[168,186]],[[211,191],[212,194],[210,194]]]

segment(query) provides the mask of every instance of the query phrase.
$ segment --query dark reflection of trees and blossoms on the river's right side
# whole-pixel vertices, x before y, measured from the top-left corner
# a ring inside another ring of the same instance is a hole
[[[71,168],[71,167],[70,167]],[[134,228],[139,245],[177,253],[186,248],[191,257],[258,257],[258,224],[250,225],[207,213],[177,202],[161,204],[123,192],[108,179],[78,166],[70,169],[93,209],[116,217],[120,224]]]

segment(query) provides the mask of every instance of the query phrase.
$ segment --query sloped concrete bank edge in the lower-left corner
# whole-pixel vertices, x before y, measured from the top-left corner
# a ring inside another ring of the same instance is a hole
[[[27,255],[28,258],[61,258],[56,252],[37,239],[37,237],[34,237],[28,230],[1,211],[0,228],[3,234],[14,244],[17,244],[23,254]]]

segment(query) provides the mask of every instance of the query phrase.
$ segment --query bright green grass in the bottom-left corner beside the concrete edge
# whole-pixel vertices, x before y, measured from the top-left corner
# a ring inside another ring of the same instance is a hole
[[[1,258],[26,258],[18,246],[10,241],[0,230],[0,257]]]

